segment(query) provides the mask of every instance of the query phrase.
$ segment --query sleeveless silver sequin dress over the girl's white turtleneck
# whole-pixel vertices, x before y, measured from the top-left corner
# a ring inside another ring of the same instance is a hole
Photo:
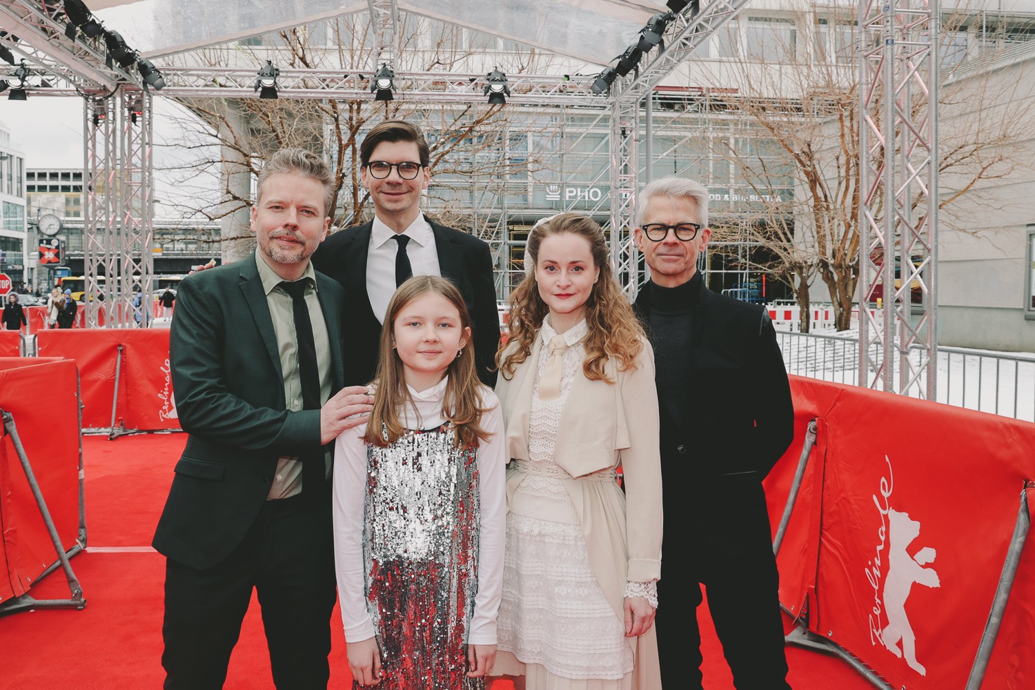
[[[476,452],[454,448],[448,425],[368,447],[363,513],[378,687],[483,688],[465,677],[478,582]]]

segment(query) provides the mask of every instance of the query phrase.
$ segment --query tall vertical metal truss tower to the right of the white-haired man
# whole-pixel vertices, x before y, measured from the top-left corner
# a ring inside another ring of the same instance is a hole
[[[859,384],[935,399],[938,0],[863,0]],[[896,276],[896,273],[898,274]],[[881,286],[883,314],[866,306]],[[914,304],[914,286],[922,295]]]

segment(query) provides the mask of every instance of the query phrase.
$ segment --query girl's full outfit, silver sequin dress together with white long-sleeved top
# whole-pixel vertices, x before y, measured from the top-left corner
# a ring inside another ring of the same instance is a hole
[[[502,588],[504,458],[495,394],[482,426],[493,438],[454,448],[441,395],[412,391],[410,432],[380,448],[364,427],[334,455],[334,542],[346,639],[376,637],[381,690],[475,690],[467,646],[496,642]],[[358,687],[358,686],[354,686]]]

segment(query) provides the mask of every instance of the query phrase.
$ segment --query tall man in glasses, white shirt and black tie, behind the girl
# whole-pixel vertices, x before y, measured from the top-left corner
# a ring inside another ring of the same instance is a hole
[[[500,323],[492,256],[482,240],[420,212],[420,194],[432,179],[423,134],[408,122],[385,120],[363,138],[359,159],[374,219],[334,233],[313,257],[316,269],[341,282],[348,296],[347,352],[357,378],[346,383],[374,378],[381,324],[395,288],[410,275],[442,275],[460,289],[471,313],[478,378],[495,386]]]

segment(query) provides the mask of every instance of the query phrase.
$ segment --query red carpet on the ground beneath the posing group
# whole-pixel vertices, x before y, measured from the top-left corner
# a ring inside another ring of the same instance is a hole
[[[183,433],[86,437],[88,548],[71,560],[87,606],[38,609],[0,618],[0,689],[158,688],[165,561],[148,545],[172,482]],[[37,599],[67,597],[60,570],[33,588]],[[732,690],[721,649],[702,611],[707,690]],[[334,621],[339,621],[335,609]],[[351,687],[339,625],[333,625],[331,688]],[[871,688],[836,657],[788,648],[796,690]],[[258,603],[245,617],[226,688],[272,688]],[[415,689],[416,690],[416,689]],[[673,690],[670,688],[670,690]],[[679,690],[679,689],[677,689]]]

